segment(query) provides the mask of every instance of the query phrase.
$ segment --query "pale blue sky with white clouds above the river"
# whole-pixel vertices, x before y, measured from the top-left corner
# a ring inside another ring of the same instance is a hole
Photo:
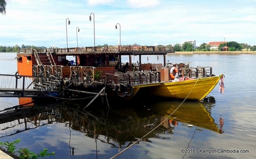
[[[0,46],[66,48],[175,44],[196,40],[256,44],[256,0],[8,0]],[[66,19],[70,19],[67,25]],[[117,29],[115,29],[115,25]],[[80,28],[80,32],[76,28]],[[121,30],[120,30],[121,29]],[[66,35],[67,31],[67,35]],[[77,33],[77,40],[76,40]]]

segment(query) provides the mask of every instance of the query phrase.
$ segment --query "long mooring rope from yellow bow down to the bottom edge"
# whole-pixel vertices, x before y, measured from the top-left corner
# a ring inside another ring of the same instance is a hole
[[[194,86],[195,84],[198,82],[199,78],[196,80],[196,82],[194,83]],[[147,134],[145,134],[142,138],[140,138],[139,140],[137,140],[136,142],[134,142],[133,144],[129,145],[127,148],[125,148],[124,150],[120,151],[119,153],[117,153],[116,155],[114,155],[113,157],[111,157],[110,159],[112,158],[115,158],[116,156],[120,155],[121,153],[123,153],[124,151],[128,150],[130,147],[132,147],[133,145],[135,145],[136,143],[138,143],[140,140],[142,140],[143,138],[145,138],[149,133],[151,133],[152,131],[154,131],[157,127],[159,127],[160,125],[162,125],[168,118],[170,118],[172,116],[172,114],[179,109],[179,107],[185,102],[185,100],[188,98],[188,96],[190,95],[190,93],[192,92],[194,86],[191,88],[189,94],[187,95],[187,97],[182,101],[182,103],[167,117],[165,118],[164,121],[162,121],[159,125],[157,125],[155,128],[153,128],[151,131],[149,131]]]

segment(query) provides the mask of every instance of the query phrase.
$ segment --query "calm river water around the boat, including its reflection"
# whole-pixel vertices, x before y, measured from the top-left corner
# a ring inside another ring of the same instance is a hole
[[[0,55],[0,74],[15,74],[16,54]],[[148,56],[142,62],[162,59]],[[32,111],[37,113],[26,120],[17,114],[1,118],[0,142],[21,139],[17,149],[56,154],[44,158],[254,158],[256,55],[171,54],[167,61],[212,66],[214,75],[225,75],[224,94],[217,85],[208,95],[215,102],[150,97],[103,107],[95,103],[86,110],[76,101],[37,103]],[[0,110],[18,104],[17,98],[0,98]]]

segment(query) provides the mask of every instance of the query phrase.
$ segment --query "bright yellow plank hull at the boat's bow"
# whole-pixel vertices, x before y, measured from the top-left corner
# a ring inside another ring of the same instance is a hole
[[[155,96],[200,101],[211,92],[218,82],[218,76],[177,82],[170,81],[148,87],[150,89],[148,91]]]

